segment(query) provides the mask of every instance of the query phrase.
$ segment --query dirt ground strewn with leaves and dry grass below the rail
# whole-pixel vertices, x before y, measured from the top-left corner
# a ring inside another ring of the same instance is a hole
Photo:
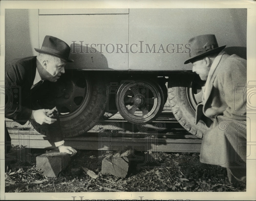
[[[34,164],[36,156],[47,151],[49,150],[13,147],[10,155],[15,156],[17,152],[26,153],[30,158],[28,162],[19,162],[18,166],[24,166],[23,168],[7,169],[5,192],[246,191],[246,186],[231,184],[228,181],[225,168],[200,163],[199,153],[136,152],[135,154],[143,160],[132,160],[126,178],[121,179],[102,175],[101,162],[110,152],[97,150],[78,150],[71,158],[68,168],[61,172],[59,177],[45,177]],[[146,158],[150,159],[147,160],[149,162],[145,161]],[[91,178],[82,167],[93,171],[97,178]]]

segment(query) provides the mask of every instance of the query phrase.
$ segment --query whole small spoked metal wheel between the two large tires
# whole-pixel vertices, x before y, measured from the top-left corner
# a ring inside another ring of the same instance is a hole
[[[164,107],[164,92],[153,80],[122,82],[116,94],[116,107],[121,116],[137,124],[157,118]]]

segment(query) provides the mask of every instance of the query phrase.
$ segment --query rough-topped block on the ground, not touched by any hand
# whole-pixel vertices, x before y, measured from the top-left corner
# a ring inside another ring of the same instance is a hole
[[[103,175],[109,173],[118,178],[125,178],[132,158],[133,152],[131,149],[109,154],[102,160],[101,173]]]

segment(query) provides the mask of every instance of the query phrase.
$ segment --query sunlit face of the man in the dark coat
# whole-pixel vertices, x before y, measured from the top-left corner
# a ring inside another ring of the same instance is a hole
[[[50,82],[57,82],[62,73],[65,73],[66,62],[59,59],[59,61],[47,61],[46,71],[48,72],[47,80]]]

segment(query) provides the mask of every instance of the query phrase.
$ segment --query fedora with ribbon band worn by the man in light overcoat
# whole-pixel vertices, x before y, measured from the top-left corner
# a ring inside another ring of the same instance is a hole
[[[195,61],[196,59],[220,52],[226,45],[219,47],[216,37],[213,34],[200,35],[191,38],[188,43],[190,44],[189,59],[184,64]]]

